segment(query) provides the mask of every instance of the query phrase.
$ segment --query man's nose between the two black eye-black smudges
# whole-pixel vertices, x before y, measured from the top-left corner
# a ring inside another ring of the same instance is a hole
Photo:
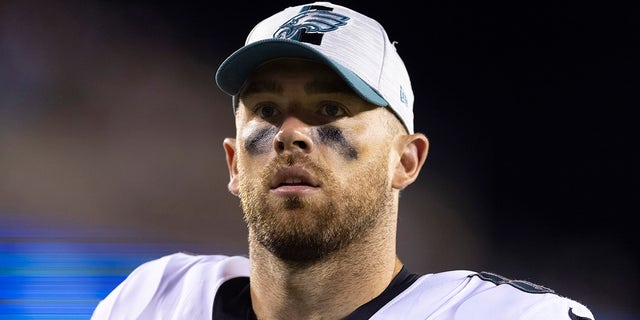
[[[310,153],[313,149],[313,141],[309,136],[309,125],[294,116],[285,118],[274,139],[274,148],[278,153],[286,151]]]

